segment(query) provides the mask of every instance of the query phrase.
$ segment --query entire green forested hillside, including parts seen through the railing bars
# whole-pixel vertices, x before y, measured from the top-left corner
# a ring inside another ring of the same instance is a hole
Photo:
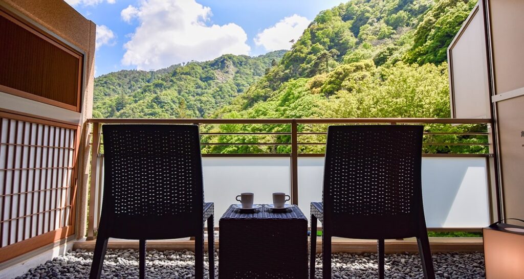
[[[476,0],[352,0],[321,12],[290,51],[223,55],[157,72],[95,81],[96,116],[213,118],[450,117],[446,48]],[[281,55],[283,54],[283,57]],[[279,59],[281,57],[281,60]],[[439,126],[434,131],[478,131]],[[289,125],[205,126],[214,132],[289,132]],[[300,126],[299,131],[325,131]],[[323,135],[302,142],[325,141]],[[282,142],[289,136],[207,136],[205,142]],[[427,137],[479,142],[477,137]],[[289,145],[211,145],[206,153],[288,153]],[[302,146],[300,152],[322,152]],[[425,152],[485,152],[482,146]]]

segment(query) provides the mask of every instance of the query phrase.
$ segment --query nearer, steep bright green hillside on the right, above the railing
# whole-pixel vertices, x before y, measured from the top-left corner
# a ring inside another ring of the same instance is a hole
[[[446,48],[476,0],[353,0],[321,12],[215,117],[450,117]]]

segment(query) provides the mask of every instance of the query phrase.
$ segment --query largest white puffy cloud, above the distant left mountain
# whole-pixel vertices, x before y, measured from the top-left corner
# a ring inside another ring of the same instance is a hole
[[[124,12],[126,10],[126,12]],[[122,10],[122,19],[136,17],[139,26],[124,44],[124,65],[160,69],[190,60],[204,61],[222,54],[248,54],[247,35],[230,23],[207,25],[211,9],[195,0],[142,0]]]

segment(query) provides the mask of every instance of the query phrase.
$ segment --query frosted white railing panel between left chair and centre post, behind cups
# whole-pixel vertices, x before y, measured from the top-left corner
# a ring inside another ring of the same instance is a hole
[[[290,159],[265,157],[204,157],[204,199],[215,203],[215,226],[235,197],[255,194],[256,204],[271,204],[272,193],[290,192]]]

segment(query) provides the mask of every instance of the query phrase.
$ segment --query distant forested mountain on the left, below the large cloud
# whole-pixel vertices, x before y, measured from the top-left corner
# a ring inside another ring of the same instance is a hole
[[[123,70],[95,79],[94,117],[201,118],[228,105],[276,65],[285,50],[226,54],[158,71]]]

